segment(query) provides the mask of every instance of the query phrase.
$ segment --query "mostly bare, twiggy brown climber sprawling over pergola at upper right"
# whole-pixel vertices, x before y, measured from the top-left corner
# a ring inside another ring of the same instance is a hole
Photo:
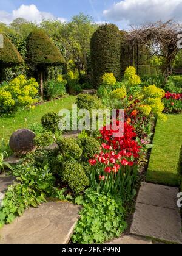
[[[180,49],[178,49],[178,35],[181,33],[182,25],[174,20],[167,22],[157,21],[147,23],[140,27],[132,27],[126,34],[126,41],[136,51],[138,46],[144,46],[146,51],[152,55],[163,57],[163,74],[167,77],[172,73],[172,63]],[[137,53],[136,53],[137,54]]]

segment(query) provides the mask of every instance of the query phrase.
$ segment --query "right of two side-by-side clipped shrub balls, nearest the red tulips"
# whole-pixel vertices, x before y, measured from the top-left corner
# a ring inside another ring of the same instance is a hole
[[[78,138],[77,143],[83,151],[81,158],[84,161],[89,160],[99,152],[100,144],[98,140],[96,140],[95,138],[92,138],[92,137]]]

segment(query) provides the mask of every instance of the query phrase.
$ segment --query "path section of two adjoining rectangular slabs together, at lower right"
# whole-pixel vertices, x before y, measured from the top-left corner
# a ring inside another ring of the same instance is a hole
[[[177,193],[178,188],[142,183],[130,233],[182,243]]]

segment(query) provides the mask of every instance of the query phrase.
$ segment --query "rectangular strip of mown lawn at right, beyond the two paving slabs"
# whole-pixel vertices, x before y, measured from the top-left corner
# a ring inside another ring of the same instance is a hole
[[[167,118],[165,123],[157,121],[146,179],[147,182],[178,186],[182,115],[167,115]]]

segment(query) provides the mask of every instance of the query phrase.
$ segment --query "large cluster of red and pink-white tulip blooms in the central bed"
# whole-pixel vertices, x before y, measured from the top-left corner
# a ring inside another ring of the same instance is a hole
[[[137,162],[140,152],[140,146],[135,141],[136,133],[133,126],[124,123],[124,135],[119,138],[113,136],[113,131],[101,131],[101,137],[106,143],[102,143],[100,154],[96,154],[94,159],[90,159],[91,166],[99,163],[104,168],[106,174],[117,173],[121,166],[133,166]],[[99,177],[104,180],[103,176]]]

